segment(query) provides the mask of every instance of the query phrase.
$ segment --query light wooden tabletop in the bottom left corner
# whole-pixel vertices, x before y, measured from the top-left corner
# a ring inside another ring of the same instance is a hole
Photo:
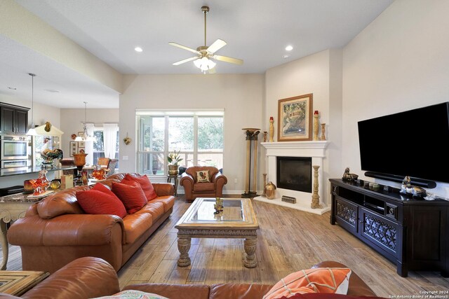
[[[0,293],[20,296],[50,275],[40,271],[0,271]]]

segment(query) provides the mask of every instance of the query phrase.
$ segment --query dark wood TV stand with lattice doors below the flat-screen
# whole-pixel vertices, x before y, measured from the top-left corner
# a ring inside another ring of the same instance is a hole
[[[449,202],[417,200],[397,188],[370,190],[363,181],[330,179],[330,224],[338,223],[362,242],[409,270],[449,276]]]

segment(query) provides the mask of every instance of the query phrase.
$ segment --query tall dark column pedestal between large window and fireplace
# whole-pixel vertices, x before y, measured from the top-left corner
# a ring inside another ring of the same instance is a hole
[[[246,182],[245,193],[242,194],[242,197],[255,197],[257,196],[257,135],[260,133],[260,129],[255,129],[253,127],[244,127],[242,130],[246,131]],[[254,153],[252,146],[253,141]],[[251,156],[253,154],[253,191],[250,191]]]

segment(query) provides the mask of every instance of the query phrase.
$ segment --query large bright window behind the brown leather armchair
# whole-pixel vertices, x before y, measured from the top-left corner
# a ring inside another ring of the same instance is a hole
[[[223,167],[223,111],[138,111],[140,174],[167,174],[167,155],[180,151],[180,167]]]

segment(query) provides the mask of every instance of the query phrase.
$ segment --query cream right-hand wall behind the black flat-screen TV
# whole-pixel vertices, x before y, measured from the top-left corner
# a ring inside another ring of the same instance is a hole
[[[446,0],[396,0],[344,48],[342,160],[351,172],[363,174],[358,120],[449,101],[448,15]],[[429,192],[449,197],[449,184]]]

